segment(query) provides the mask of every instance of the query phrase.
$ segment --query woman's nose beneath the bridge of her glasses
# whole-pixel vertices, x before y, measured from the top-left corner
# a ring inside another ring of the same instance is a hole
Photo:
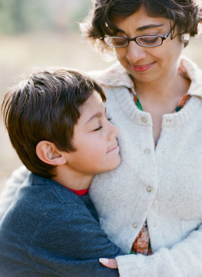
[[[147,57],[147,53],[143,46],[138,45],[135,41],[130,41],[127,48],[126,58],[131,63],[136,63],[138,60]]]

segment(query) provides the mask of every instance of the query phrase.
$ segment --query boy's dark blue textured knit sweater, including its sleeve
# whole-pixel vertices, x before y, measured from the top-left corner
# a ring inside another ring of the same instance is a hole
[[[120,254],[99,228],[88,195],[34,174],[0,223],[1,277],[117,277],[118,270],[104,267],[99,258]]]

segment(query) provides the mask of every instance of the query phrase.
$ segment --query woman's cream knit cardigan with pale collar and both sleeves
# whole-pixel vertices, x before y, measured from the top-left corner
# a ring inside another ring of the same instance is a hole
[[[120,277],[202,276],[202,75],[188,59],[181,67],[192,97],[178,113],[163,115],[156,150],[151,115],[132,101],[126,70],[117,63],[97,76],[107,113],[120,128],[122,162],[96,175],[89,193],[111,241],[130,253],[147,219],[154,253],[117,257]],[[22,167],[8,181],[0,216],[27,173]]]

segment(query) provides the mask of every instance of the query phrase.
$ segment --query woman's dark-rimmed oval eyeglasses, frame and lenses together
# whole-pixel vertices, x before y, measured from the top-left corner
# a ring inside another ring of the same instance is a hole
[[[135,38],[127,38],[127,37],[122,37],[122,36],[106,36],[103,38],[100,38],[107,46],[109,47],[115,47],[115,48],[120,48],[120,47],[126,47],[128,46],[130,41],[135,41],[138,45],[140,46],[145,46],[145,47],[156,47],[160,46],[163,43],[163,40],[166,40],[172,30],[174,29],[174,26],[168,31],[167,34],[165,35],[143,35],[143,36],[138,36]]]

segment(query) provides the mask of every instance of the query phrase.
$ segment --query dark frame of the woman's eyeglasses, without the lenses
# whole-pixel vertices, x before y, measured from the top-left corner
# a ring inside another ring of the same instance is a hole
[[[138,36],[138,37],[135,37],[135,38],[127,38],[127,37],[124,37],[124,36],[120,36],[120,35],[115,35],[115,36],[112,36],[112,35],[109,35],[109,36],[105,36],[105,37],[103,37],[103,38],[100,38],[107,46],[109,46],[106,42],[105,42],[105,38],[125,38],[127,41],[128,41],[128,44],[129,44],[129,42],[130,41],[135,41],[138,45],[140,45],[140,46],[143,46],[143,47],[157,47],[157,46],[160,46],[160,45],[162,45],[162,43],[163,43],[163,40],[166,40],[167,38],[168,38],[168,36],[170,35],[170,33],[172,32],[172,30],[174,29],[174,26],[168,31],[168,33],[166,33],[165,35],[140,35],[140,36]],[[155,46],[147,46],[147,45],[142,45],[142,44],[140,44],[140,43],[138,43],[137,42],[137,38],[148,38],[148,37],[159,37],[159,38],[161,38],[161,44],[159,44],[159,45],[155,45]],[[121,48],[121,47],[126,47],[126,46],[128,46],[128,44],[127,45],[124,45],[124,46],[109,46],[109,47],[113,47],[113,48]]]

